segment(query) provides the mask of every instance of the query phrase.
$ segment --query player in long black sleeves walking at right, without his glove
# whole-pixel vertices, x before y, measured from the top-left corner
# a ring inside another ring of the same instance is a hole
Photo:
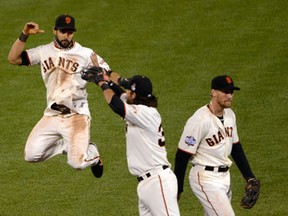
[[[229,168],[232,155],[246,181],[255,179],[239,141],[236,117],[231,109],[235,87],[231,77],[221,75],[211,82],[211,101],[186,122],[178,144],[174,172],[178,179],[178,200],[183,192],[187,163],[189,182],[205,215],[235,215],[231,206]]]

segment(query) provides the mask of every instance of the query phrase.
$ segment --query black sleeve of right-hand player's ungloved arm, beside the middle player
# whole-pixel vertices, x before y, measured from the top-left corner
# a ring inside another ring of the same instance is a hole
[[[184,178],[187,169],[187,164],[191,158],[191,154],[182,151],[178,148],[175,157],[174,173],[178,181],[178,194],[183,192]]]

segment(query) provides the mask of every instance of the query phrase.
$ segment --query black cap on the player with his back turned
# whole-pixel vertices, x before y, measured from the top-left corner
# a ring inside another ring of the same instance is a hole
[[[142,97],[151,97],[152,96],[152,83],[151,80],[142,75],[135,75],[129,79],[127,89],[135,92],[137,95]]]

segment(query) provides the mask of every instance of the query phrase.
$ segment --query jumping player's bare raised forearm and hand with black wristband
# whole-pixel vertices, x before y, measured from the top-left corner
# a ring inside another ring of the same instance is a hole
[[[25,43],[29,35],[44,33],[44,30],[39,29],[37,23],[29,22],[26,23],[19,38],[12,45],[8,54],[8,61],[11,64],[21,65],[22,64],[22,52],[25,47]]]

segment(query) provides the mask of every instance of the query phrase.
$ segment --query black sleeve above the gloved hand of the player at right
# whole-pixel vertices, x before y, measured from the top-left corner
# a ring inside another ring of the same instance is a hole
[[[233,144],[231,156],[246,181],[255,178],[240,142]]]

